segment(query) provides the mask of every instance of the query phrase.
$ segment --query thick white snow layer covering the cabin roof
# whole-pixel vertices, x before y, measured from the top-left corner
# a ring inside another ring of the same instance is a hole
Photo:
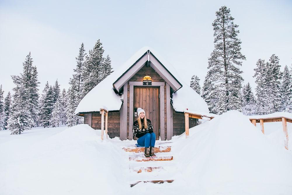
[[[147,53],[148,50],[183,86],[172,94],[172,105],[175,111],[183,112],[188,108],[189,110],[208,113],[207,103],[188,84],[183,82],[175,68],[168,61],[164,60],[154,49],[143,47],[88,92],[78,104],[75,114],[100,111],[102,108],[105,108],[108,111],[119,111],[122,105],[123,94],[119,96],[119,94],[114,92],[113,83],[116,82],[117,79],[120,78],[133,64],[135,64],[138,59]]]

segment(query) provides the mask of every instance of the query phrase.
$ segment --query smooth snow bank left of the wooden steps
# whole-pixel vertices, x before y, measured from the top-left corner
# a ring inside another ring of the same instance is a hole
[[[121,194],[128,186],[125,152],[111,141],[101,142],[100,131],[88,125],[25,148],[26,137],[20,136],[0,143],[0,194]]]

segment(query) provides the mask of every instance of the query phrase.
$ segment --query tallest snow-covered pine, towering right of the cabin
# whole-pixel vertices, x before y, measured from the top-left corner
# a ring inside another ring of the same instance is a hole
[[[242,111],[240,89],[243,78],[239,67],[246,58],[241,54],[238,25],[233,20],[230,9],[222,6],[212,23],[215,49],[208,59],[208,75],[214,86],[212,90],[219,94],[213,109],[217,114],[228,110]]]

